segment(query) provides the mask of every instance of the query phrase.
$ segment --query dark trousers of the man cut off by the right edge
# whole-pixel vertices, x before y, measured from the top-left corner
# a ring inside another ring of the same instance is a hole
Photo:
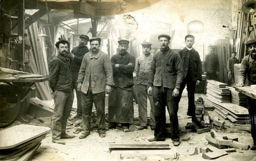
[[[248,112],[250,116],[250,125],[251,125],[251,136],[253,139],[253,145],[256,145],[256,100],[247,97],[248,101]]]

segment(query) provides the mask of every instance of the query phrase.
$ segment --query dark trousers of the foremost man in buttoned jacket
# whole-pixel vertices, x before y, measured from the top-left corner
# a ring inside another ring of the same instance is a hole
[[[164,139],[166,137],[166,106],[170,116],[171,138],[173,141],[178,141],[179,138],[179,124],[178,124],[178,97],[173,97],[173,89],[162,89],[161,87],[153,87],[153,102],[155,109],[155,138]]]

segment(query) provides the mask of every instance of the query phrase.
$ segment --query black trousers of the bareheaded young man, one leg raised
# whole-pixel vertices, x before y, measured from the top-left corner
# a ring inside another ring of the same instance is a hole
[[[179,101],[182,96],[182,92],[187,85],[187,97],[188,97],[188,108],[187,115],[195,118],[195,85],[196,81],[191,81],[191,78],[186,76],[180,86]]]

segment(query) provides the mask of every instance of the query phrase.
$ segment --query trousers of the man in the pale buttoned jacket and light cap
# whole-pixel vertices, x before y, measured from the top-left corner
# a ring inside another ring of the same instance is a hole
[[[153,108],[153,98],[152,95],[147,94],[147,86],[138,85],[137,89],[138,97],[138,108],[139,108],[139,123],[140,126],[147,126],[147,98],[150,103],[150,126],[156,126],[154,108]]]

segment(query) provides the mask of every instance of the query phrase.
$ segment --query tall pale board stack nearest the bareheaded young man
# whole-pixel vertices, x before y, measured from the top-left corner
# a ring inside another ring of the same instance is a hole
[[[221,82],[207,80],[207,96],[220,103],[230,103],[230,91],[226,86]]]

